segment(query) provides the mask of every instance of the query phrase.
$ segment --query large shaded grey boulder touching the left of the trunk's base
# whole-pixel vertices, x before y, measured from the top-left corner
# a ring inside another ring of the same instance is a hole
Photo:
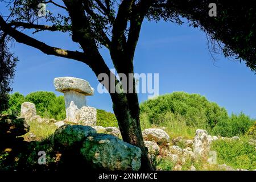
[[[126,171],[141,167],[141,149],[113,135],[90,135],[82,144],[81,154],[94,169]]]

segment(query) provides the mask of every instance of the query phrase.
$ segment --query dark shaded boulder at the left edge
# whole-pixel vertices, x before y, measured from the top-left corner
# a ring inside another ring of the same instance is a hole
[[[30,131],[30,125],[24,118],[15,115],[0,115],[0,140],[15,138]]]

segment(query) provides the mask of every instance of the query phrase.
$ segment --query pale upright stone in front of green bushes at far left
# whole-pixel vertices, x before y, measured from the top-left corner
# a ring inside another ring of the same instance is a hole
[[[26,121],[30,121],[30,119],[35,116],[36,116],[35,104],[31,102],[24,102],[21,105],[20,117],[25,118]]]

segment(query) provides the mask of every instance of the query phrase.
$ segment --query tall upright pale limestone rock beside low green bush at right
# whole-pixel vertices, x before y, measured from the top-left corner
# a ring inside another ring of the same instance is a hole
[[[210,150],[210,144],[212,143],[212,137],[208,135],[205,130],[196,130],[196,136],[193,141],[193,152],[196,155],[201,155],[203,157],[208,156]]]

